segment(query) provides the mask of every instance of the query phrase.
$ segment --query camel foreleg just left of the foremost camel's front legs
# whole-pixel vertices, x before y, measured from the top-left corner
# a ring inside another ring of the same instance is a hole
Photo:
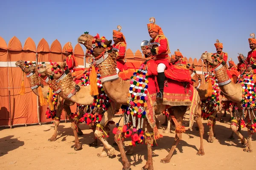
[[[103,134],[102,127],[104,128],[107,125],[108,120],[113,117],[113,114],[112,114],[113,111],[111,111],[111,110],[112,109],[109,108],[103,114],[102,120],[101,120],[100,124],[97,124],[96,130],[94,132],[94,135],[96,136],[96,138],[98,138],[104,145],[102,152],[97,154],[97,156],[99,156],[99,157],[113,156],[115,154],[115,149],[108,143],[107,140],[105,140],[102,137],[102,134]],[[103,135],[106,136],[105,134],[103,134]]]

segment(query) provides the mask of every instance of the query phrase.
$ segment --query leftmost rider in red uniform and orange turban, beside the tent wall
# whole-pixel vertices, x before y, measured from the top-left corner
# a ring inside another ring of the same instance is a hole
[[[68,46],[66,46],[64,48],[64,52],[62,53],[64,54],[67,58],[66,58],[66,62],[67,62],[67,67],[70,71],[72,71],[73,68],[75,68],[76,66],[78,66],[78,63],[76,61],[76,57],[73,54],[73,47],[71,45],[71,42],[69,43]]]

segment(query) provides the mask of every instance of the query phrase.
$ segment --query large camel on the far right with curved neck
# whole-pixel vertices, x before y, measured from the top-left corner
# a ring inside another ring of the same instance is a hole
[[[245,145],[243,150],[245,152],[253,152],[253,147],[251,145],[252,133],[250,132],[250,129],[248,129],[249,139],[246,139],[244,138],[244,136],[241,135],[241,133],[239,133],[239,131],[236,128],[237,121],[239,120],[239,118],[244,116],[241,111],[241,101],[242,101],[242,95],[243,95],[242,94],[243,88],[241,86],[241,83],[235,84],[228,77],[227,67],[222,62],[223,55],[212,56],[212,54],[208,52],[204,52],[201,55],[201,59],[206,60],[209,63],[209,65],[211,65],[211,67],[214,68],[216,78],[218,79],[218,82],[221,82],[221,83],[218,83],[218,85],[222,93],[224,94],[224,96],[228,100],[233,101],[237,104],[239,113],[237,113],[236,115],[233,115],[236,119],[231,120],[232,124],[230,128],[239,137],[239,139],[241,140],[241,143]],[[251,119],[253,119],[253,115]],[[250,124],[248,128],[250,128]]]

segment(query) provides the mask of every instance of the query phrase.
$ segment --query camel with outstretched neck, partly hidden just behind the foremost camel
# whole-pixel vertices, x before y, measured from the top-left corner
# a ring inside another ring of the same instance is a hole
[[[64,99],[69,99],[70,101],[76,102],[79,105],[93,105],[94,97],[90,95],[90,85],[76,85],[73,77],[71,76],[71,73],[69,71],[64,71],[64,68],[66,67],[66,62],[57,63],[60,67],[57,67],[57,65],[45,64],[45,67],[41,66],[38,69],[38,73],[40,73],[41,75],[44,73],[51,76],[57,82],[58,88],[61,89],[58,95],[63,97]],[[59,73],[59,71],[61,71],[61,73]],[[67,97],[71,91],[76,92],[73,93],[72,96]],[[108,121],[114,116],[114,114],[119,110],[119,108],[119,104],[111,102],[110,107],[103,114],[101,122],[96,126],[94,135],[104,145],[102,152],[97,154],[98,157],[113,156],[115,153],[115,149],[110,144],[108,144],[107,135],[105,135],[104,132],[108,134],[108,128],[106,128],[106,125]]]

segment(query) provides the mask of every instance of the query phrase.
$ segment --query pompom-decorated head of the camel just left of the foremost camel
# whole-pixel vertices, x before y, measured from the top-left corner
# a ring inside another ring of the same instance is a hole
[[[66,62],[51,62],[51,64],[46,64],[47,74],[53,79],[58,79],[64,73],[65,69],[67,69]]]

